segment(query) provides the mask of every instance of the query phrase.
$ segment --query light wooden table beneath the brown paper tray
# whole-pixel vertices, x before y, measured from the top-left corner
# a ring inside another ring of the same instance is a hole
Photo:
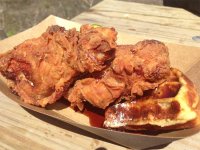
[[[72,19],[114,26],[119,31],[200,47],[200,18],[177,8],[106,0]],[[126,149],[96,135],[25,110],[0,93],[0,149]],[[200,133],[163,149],[200,149]]]

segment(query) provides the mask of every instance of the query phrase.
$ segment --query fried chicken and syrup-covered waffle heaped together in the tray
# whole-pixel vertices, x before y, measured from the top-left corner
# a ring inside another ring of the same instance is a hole
[[[73,108],[105,112],[103,126],[126,130],[191,128],[199,122],[193,83],[170,66],[156,40],[117,45],[114,28],[51,26],[0,56],[0,72],[28,104],[45,107],[64,96]]]

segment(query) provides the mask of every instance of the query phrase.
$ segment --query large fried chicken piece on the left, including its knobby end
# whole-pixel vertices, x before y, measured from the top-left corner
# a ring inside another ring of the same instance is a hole
[[[0,57],[0,72],[25,103],[45,107],[57,101],[83,72],[102,70],[113,57],[113,28],[83,25],[81,31],[51,26]]]

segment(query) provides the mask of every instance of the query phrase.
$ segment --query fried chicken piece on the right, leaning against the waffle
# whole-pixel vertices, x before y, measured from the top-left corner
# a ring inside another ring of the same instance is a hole
[[[116,99],[133,100],[155,89],[170,73],[167,47],[155,40],[116,48],[115,59],[101,75],[79,80],[65,96],[72,106],[84,108],[83,101],[105,109]]]

